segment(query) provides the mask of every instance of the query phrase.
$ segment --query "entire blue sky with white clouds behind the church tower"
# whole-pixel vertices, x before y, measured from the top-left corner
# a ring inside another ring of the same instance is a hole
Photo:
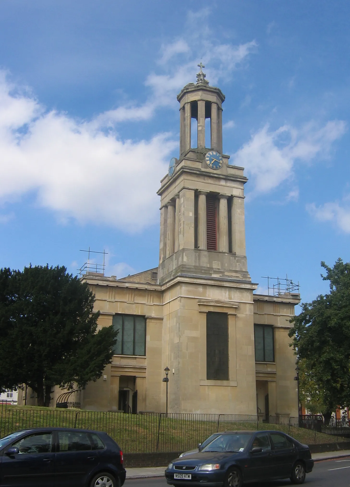
[[[176,94],[202,59],[245,167],[248,269],[325,292],[349,261],[348,1],[2,0],[0,266],[158,264],[156,190],[178,156]]]

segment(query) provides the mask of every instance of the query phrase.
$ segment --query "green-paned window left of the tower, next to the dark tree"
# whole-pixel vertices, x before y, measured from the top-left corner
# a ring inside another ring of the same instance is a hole
[[[116,355],[146,355],[146,318],[114,315],[113,328],[119,330],[114,346]]]

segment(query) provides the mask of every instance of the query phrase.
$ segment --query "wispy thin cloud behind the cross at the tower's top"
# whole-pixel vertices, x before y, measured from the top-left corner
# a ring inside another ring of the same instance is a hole
[[[189,12],[184,34],[162,45],[158,67],[163,73],[147,76],[145,86],[150,89],[150,94],[144,104],[134,102],[110,110],[99,115],[94,123],[113,126],[122,121],[142,121],[151,118],[159,107],[177,107],[176,95],[187,83],[196,82],[199,60],[205,66],[206,79],[211,85],[220,79],[230,80],[232,73],[256,51],[258,44],[255,40],[239,45],[222,44],[213,36],[209,14],[208,8]]]

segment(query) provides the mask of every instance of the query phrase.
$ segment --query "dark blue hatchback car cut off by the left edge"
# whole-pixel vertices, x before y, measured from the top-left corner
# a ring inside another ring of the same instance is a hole
[[[0,438],[1,487],[121,487],[123,452],[107,433],[35,428]]]

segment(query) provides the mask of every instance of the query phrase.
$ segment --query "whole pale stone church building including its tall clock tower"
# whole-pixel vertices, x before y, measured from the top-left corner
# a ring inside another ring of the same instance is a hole
[[[168,368],[169,412],[297,416],[288,331],[300,297],[253,294],[247,178],[222,153],[225,96],[200,67],[197,83],[177,97],[179,158],[158,191],[159,265],[123,279],[83,277],[96,296],[99,326],[113,325],[119,335],[104,375],[71,400],[91,410],[165,412]]]

